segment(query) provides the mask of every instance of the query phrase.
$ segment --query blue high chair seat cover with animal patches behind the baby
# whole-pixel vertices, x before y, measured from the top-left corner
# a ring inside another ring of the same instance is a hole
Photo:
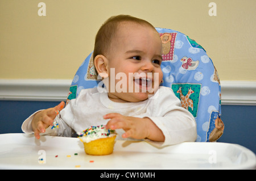
[[[161,86],[171,87],[181,106],[195,117],[197,142],[213,142],[221,137],[221,86],[217,70],[201,45],[183,33],[156,28],[162,39]],[[92,53],[82,62],[73,78],[67,103],[82,89],[96,87]]]

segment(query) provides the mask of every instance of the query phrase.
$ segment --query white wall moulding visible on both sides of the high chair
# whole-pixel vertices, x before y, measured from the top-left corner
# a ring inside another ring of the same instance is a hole
[[[72,79],[0,79],[0,100],[62,101]],[[256,82],[221,81],[222,104],[256,105]]]

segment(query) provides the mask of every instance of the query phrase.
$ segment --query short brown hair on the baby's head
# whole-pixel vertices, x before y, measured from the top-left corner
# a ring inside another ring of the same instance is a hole
[[[130,15],[117,15],[110,17],[104,24],[102,24],[96,35],[93,60],[98,54],[102,54],[104,56],[108,54],[112,45],[112,40],[115,33],[117,33],[118,25],[121,22],[133,22],[154,28],[154,26],[152,26],[152,24],[148,23],[146,20],[135,18]]]

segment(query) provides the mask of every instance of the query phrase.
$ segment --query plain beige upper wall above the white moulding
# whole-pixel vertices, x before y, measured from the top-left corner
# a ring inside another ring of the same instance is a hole
[[[209,16],[210,2],[217,16]],[[255,7],[255,0],[0,0],[0,79],[72,79],[101,24],[130,14],[195,39],[222,81],[256,81]]]

